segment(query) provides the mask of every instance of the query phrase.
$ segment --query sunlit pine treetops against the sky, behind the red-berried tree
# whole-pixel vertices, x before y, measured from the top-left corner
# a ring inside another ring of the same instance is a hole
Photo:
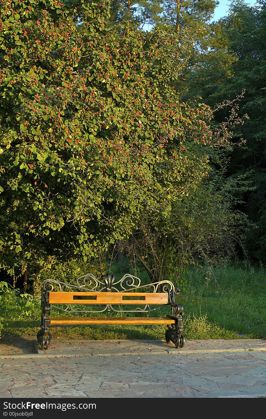
[[[142,29],[145,24],[167,30],[170,26],[176,32],[189,28],[194,36],[191,42],[194,52],[191,54],[183,75],[172,88],[183,92],[187,89],[187,76],[195,66],[201,66],[202,57],[213,47],[215,32],[219,31],[216,23],[211,23],[216,0],[112,0],[110,2],[111,16],[108,24],[115,25],[121,21],[126,22],[127,31],[130,28]],[[81,26],[80,30],[83,30]]]

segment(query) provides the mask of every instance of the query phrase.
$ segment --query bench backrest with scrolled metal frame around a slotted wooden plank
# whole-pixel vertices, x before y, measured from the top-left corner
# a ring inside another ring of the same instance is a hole
[[[41,283],[41,307],[43,313],[49,313],[51,306],[67,313],[149,313],[167,304],[173,310],[179,292],[168,280],[142,285],[131,274],[117,280],[110,274],[101,280],[86,274],[77,278],[77,285],[45,279]]]

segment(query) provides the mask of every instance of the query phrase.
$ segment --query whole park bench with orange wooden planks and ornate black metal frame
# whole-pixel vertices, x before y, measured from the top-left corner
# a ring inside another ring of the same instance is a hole
[[[138,277],[125,274],[121,279],[103,275],[101,280],[93,274],[77,279],[77,285],[55,279],[41,282],[41,329],[37,340],[41,349],[48,349],[52,339],[51,326],[75,325],[166,325],[165,341],[176,348],[184,345],[182,334],[183,305],[175,302],[175,290],[168,280],[142,285]],[[150,313],[169,306],[164,317],[151,317]],[[65,313],[51,316],[51,309]],[[134,316],[134,317],[132,317]]]

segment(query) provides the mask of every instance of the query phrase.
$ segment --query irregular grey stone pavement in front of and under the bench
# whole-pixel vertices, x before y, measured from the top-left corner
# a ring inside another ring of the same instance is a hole
[[[0,345],[0,398],[262,398],[266,340],[65,341]],[[8,343],[13,342],[13,343]]]

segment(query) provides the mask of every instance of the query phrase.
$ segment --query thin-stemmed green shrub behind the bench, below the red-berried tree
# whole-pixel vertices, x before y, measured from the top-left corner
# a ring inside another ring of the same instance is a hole
[[[185,289],[187,264],[215,263],[235,256],[243,214],[232,210],[227,184],[218,175],[177,202],[167,217],[144,214],[129,239],[117,243],[133,266],[154,282],[170,279]]]

